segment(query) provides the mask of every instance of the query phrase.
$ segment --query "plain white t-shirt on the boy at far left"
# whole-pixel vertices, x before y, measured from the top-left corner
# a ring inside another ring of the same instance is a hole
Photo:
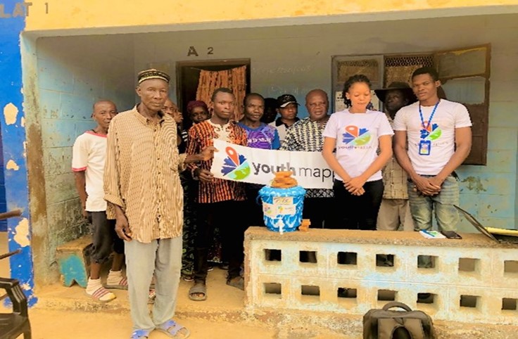
[[[75,139],[72,148],[72,171],[82,172],[87,181],[87,208],[89,212],[106,211],[103,174],[106,159],[106,135],[84,132]]]

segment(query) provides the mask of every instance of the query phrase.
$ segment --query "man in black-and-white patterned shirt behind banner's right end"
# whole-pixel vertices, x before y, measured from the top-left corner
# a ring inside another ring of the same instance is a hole
[[[322,152],[322,132],[329,115],[329,99],[322,89],[313,89],[305,96],[305,107],[309,117],[299,120],[288,130],[281,145],[282,151]],[[303,218],[310,219],[315,228],[334,228],[329,208],[334,205],[333,190],[309,188],[304,198]]]

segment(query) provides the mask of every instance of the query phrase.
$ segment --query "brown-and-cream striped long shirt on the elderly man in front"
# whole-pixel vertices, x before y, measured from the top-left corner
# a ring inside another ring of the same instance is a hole
[[[175,120],[160,115],[153,122],[137,111],[119,113],[110,122],[104,167],[106,213],[125,212],[132,238],[141,243],[182,234],[183,191]]]

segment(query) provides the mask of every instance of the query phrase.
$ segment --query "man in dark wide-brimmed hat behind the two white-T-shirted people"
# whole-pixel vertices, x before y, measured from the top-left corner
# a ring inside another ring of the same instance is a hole
[[[415,103],[415,97],[410,85],[405,82],[392,82],[385,89],[375,89],[377,97],[384,104],[388,121],[393,119],[400,108]],[[405,231],[413,231],[414,223],[408,205],[407,174],[391,158],[383,169],[384,193],[379,207],[377,229],[397,231],[403,226]]]

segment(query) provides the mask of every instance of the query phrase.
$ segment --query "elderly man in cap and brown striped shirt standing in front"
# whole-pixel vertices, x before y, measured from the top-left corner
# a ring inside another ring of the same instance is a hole
[[[189,330],[172,320],[182,268],[183,192],[179,172],[189,162],[213,158],[213,147],[179,154],[175,120],[161,110],[168,98],[169,75],[139,72],[141,102],[110,122],[104,169],[108,218],[125,240],[126,273],[133,321],[132,339],[156,330],[187,338]],[[153,271],[156,302],[148,311]]]

